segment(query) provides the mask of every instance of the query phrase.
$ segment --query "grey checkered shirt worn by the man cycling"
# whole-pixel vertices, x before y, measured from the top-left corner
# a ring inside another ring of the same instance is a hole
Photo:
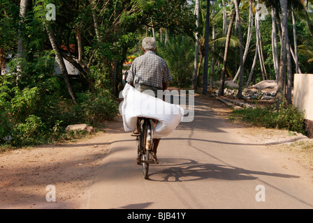
[[[163,83],[172,79],[166,61],[152,51],[137,57],[129,70],[126,81],[163,89]]]

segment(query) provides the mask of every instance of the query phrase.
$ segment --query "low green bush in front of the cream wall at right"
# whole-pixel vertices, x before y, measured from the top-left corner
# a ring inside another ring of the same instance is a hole
[[[240,118],[242,121],[265,128],[285,129],[306,134],[303,128],[304,117],[304,114],[296,107],[286,105],[286,101],[283,100],[277,109],[269,106],[234,110],[231,118]]]

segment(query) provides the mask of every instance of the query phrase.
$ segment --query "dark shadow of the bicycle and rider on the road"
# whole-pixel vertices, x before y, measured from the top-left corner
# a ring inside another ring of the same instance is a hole
[[[162,159],[160,161],[159,168],[161,169],[151,173],[147,180],[159,182],[184,182],[205,180],[208,178],[220,180],[256,180],[258,178],[256,175],[279,178],[300,178],[300,176],[289,174],[251,171],[224,164],[199,163],[195,160],[187,159]]]

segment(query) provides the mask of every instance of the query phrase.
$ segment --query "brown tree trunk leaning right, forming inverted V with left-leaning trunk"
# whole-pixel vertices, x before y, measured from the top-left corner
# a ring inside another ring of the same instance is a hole
[[[221,86],[219,87],[218,96],[224,96],[224,85],[225,85],[226,67],[227,67],[227,59],[228,59],[228,49],[229,49],[229,43],[231,42],[231,31],[233,29],[234,21],[235,21],[235,10],[233,11],[233,14],[231,15],[231,21],[229,22],[228,32],[226,36],[223,68],[221,70]]]

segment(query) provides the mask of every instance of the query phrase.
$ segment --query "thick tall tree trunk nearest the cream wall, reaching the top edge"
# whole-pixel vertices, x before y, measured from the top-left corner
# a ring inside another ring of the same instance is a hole
[[[277,84],[276,105],[284,96],[284,84],[286,79],[286,44],[288,35],[288,0],[279,0],[282,7],[282,49],[280,54],[279,79]]]

